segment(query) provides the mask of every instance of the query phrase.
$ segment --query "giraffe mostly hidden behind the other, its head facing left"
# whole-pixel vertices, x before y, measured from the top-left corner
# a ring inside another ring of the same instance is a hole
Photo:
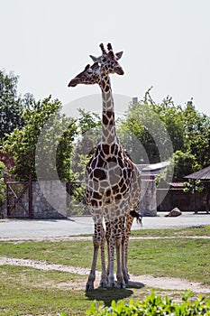
[[[120,58],[122,56],[122,53],[121,52],[116,53],[115,55],[117,58]],[[88,84],[95,84],[95,83],[101,87],[102,82],[101,82],[101,77],[100,77],[100,66],[98,65],[98,62],[102,59],[102,56],[99,58],[91,56],[91,58],[95,61],[95,63],[92,66],[87,65],[85,70],[83,70],[81,73],[78,74],[78,76],[75,77],[75,79],[72,79],[69,82],[68,87],[75,87],[77,84],[88,85]],[[106,65],[105,70],[107,71],[107,65]],[[140,215],[137,212],[135,212],[133,209],[137,209],[138,204],[139,204],[141,177],[140,177],[140,172],[138,171],[137,167],[128,159],[124,151],[123,151],[123,156],[125,160],[129,161],[129,164],[131,164],[133,168],[132,191],[131,191],[132,199],[130,202],[130,209],[132,208],[132,210],[131,212],[128,212],[126,215],[126,218],[123,218],[121,221],[122,231],[123,231],[123,237],[122,237],[122,265],[123,266],[122,268],[123,268],[123,278],[124,278],[125,283],[127,283],[129,280],[129,275],[127,271],[128,239],[131,234],[133,217],[140,219]],[[125,231],[123,229],[124,224],[125,224]],[[106,225],[105,236],[108,243],[108,256],[110,256],[109,254],[109,251],[110,251],[109,240],[110,240],[110,232],[111,232],[110,223],[106,221],[105,225]],[[108,263],[110,264],[110,260],[108,260]],[[109,273],[109,269],[110,267],[108,265],[108,268],[107,268],[108,273]]]

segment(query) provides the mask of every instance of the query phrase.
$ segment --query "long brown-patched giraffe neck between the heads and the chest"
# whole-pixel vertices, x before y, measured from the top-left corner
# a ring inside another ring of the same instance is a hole
[[[103,113],[102,113],[102,143],[115,144],[118,143],[115,120],[114,120],[114,99],[112,88],[108,75],[102,73],[101,90],[103,100]]]

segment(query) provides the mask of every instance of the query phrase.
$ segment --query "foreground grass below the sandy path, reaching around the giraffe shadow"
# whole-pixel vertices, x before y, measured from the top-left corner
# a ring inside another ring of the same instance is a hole
[[[60,283],[86,283],[87,276],[78,276],[56,271],[40,271],[23,266],[0,266],[0,315],[57,315],[65,311],[68,315],[84,315],[91,301],[110,305],[112,300],[130,298],[141,299],[147,293],[143,289],[99,289],[91,293],[84,290],[72,290]]]

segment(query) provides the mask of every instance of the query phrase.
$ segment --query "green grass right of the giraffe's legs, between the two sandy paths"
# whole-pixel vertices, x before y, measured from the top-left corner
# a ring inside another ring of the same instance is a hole
[[[131,274],[180,277],[210,286],[210,242],[175,238],[130,241]]]

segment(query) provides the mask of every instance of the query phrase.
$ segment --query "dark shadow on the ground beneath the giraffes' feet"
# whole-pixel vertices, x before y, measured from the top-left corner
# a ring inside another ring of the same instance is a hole
[[[98,287],[93,291],[89,291],[86,293],[86,297],[89,301],[103,301],[105,306],[110,306],[112,301],[123,300],[127,297],[132,296],[133,289],[141,289],[144,287],[143,283],[140,282],[132,282],[126,284],[125,289],[116,289],[110,287]]]

